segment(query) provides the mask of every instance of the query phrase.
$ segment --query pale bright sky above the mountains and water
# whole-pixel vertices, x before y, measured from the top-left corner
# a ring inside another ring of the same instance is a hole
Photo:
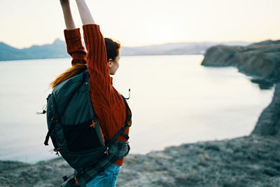
[[[70,0],[76,27],[82,27]],[[105,37],[122,46],[280,39],[279,0],[87,0]],[[15,48],[64,40],[59,0],[1,0],[0,41]]]

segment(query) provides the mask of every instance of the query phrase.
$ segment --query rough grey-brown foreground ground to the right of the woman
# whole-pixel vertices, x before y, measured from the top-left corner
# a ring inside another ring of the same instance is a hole
[[[280,186],[279,145],[251,136],[130,155],[118,186]]]

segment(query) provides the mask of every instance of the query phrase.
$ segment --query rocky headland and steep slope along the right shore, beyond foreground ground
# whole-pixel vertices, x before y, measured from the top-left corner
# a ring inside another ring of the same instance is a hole
[[[245,74],[255,76],[260,88],[275,83],[271,104],[262,111],[252,134],[280,136],[280,40],[262,41],[250,46],[214,46],[207,50],[204,66],[232,66]]]

